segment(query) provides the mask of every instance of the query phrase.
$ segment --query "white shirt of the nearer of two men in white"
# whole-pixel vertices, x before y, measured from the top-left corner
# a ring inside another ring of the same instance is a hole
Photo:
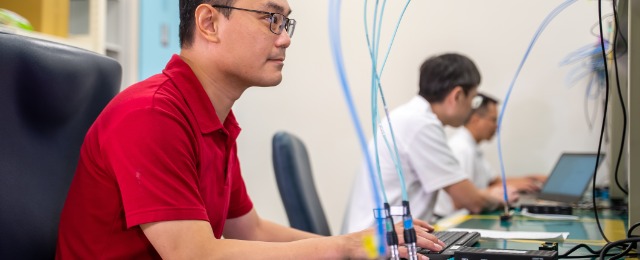
[[[467,177],[447,145],[442,122],[431,111],[431,106],[424,98],[414,97],[393,110],[390,117],[412,216],[428,221],[433,213],[438,191]],[[385,134],[390,136],[387,119],[382,122],[382,126]],[[388,139],[390,140],[390,137]],[[390,146],[393,147],[393,144],[390,143]],[[369,142],[369,152],[375,164],[373,141]],[[378,152],[382,181],[389,204],[401,206],[400,179],[391,158],[392,153],[388,151],[381,131],[378,131]],[[342,233],[373,226],[374,204],[369,173],[363,165],[353,184]],[[395,219],[396,222],[399,220]]]

